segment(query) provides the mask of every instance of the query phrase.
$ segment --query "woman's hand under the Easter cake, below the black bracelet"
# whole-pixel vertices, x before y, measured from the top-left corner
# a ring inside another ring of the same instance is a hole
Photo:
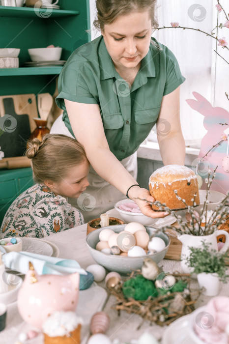
[[[155,219],[155,218],[164,218],[165,216],[169,215],[169,213],[165,211],[153,211],[151,204],[147,203],[146,201],[141,201],[141,200],[147,200],[150,202],[155,201],[155,199],[150,195],[147,189],[140,188],[139,186],[133,186],[128,192],[128,196],[129,198],[131,198],[133,201],[135,201],[138,204],[142,213],[148,217],[152,217],[153,219]]]

